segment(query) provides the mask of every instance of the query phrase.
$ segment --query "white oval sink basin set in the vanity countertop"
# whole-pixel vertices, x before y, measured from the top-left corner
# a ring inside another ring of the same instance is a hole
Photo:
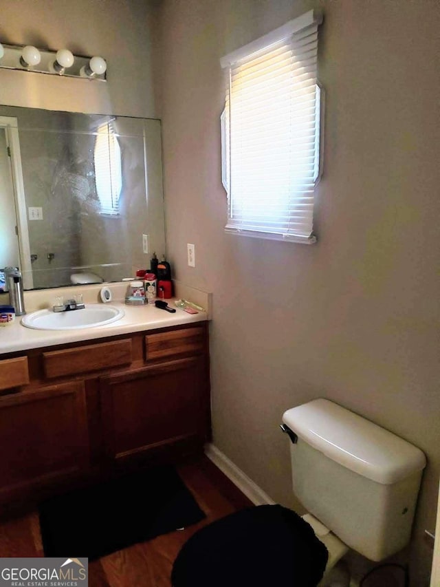
[[[108,306],[107,303],[88,303],[83,310],[38,310],[23,316],[21,323],[36,330],[78,330],[115,322],[124,314],[124,310]]]

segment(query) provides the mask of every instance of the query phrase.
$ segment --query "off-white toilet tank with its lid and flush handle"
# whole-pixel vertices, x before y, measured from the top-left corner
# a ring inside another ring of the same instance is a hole
[[[410,540],[423,452],[326,399],[288,409],[294,493],[353,550],[380,561]]]

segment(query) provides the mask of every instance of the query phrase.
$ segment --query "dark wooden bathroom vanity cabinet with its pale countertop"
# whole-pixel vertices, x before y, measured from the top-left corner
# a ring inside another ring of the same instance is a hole
[[[10,328],[17,332],[10,349],[22,348],[0,354],[0,514],[203,450],[206,314],[127,308],[118,323],[98,329],[47,332],[17,323],[2,329],[0,342]]]

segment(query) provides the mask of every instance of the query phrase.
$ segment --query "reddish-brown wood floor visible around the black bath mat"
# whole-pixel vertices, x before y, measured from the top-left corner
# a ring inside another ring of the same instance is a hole
[[[190,535],[219,517],[252,505],[207,458],[177,470],[206,513],[205,520],[90,562],[90,587],[170,587],[174,559]],[[38,512],[0,523],[0,557],[43,556]]]

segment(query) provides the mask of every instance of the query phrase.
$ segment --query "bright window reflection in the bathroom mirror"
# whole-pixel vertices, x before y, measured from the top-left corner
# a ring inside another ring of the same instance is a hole
[[[105,122],[98,127],[94,160],[100,213],[119,216],[119,198],[122,190],[121,149],[111,122]]]

